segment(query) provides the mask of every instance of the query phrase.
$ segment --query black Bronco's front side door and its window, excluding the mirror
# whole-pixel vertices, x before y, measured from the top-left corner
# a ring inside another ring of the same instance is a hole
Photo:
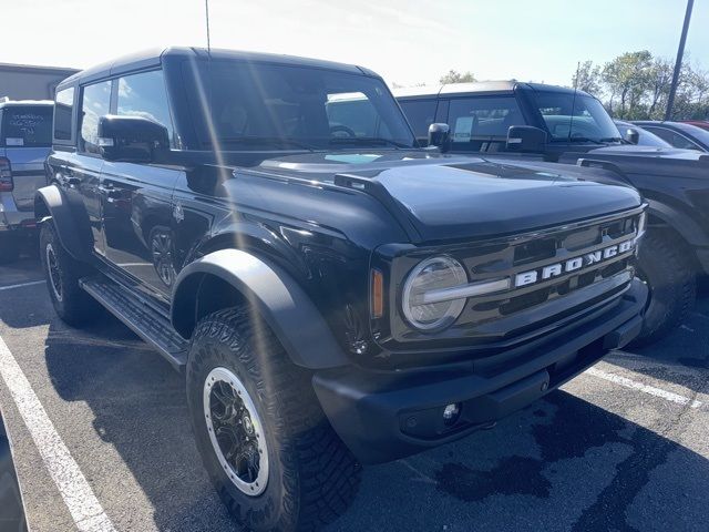
[[[175,145],[162,70],[116,80],[115,114],[143,116],[169,132]],[[106,258],[140,286],[167,300],[174,278],[173,190],[183,170],[106,161],[101,177]]]

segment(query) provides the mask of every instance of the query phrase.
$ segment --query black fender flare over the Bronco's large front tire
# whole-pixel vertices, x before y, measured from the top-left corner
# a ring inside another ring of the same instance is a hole
[[[216,276],[242,294],[271,328],[294,364],[326,369],[350,364],[300,285],[282,268],[240,249],[220,249],[191,263],[173,288],[171,320],[189,338],[198,316],[196,296],[205,276]]]

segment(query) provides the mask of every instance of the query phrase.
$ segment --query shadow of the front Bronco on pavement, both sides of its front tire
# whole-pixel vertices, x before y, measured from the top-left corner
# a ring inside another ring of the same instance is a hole
[[[237,530],[202,468],[184,380],[167,362],[113,318],[81,331],[52,324],[45,357],[61,398],[91,407],[96,434],[125,464],[105,467],[130,470],[156,529]],[[130,515],[135,499],[105,488],[120,471],[91,474],[109,513]],[[494,430],[366,468],[351,510],[327,530],[701,530],[707,492],[707,459],[557,391]]]

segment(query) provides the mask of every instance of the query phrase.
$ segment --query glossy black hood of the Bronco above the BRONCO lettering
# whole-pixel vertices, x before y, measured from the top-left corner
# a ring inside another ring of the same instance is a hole
[[[314,153],[265,161],[260,168],[368,192],[423,242],[502,236],[641,204],[634,188],[568,177],[562,166],[547,172],[430,152]]]

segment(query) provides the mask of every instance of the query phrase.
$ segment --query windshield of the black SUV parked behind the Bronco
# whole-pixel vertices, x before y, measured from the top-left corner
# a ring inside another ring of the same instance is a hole
[[[538,92],[536,104],[553,141],[612,142],[620,139],[618,129],[595,98]]]

